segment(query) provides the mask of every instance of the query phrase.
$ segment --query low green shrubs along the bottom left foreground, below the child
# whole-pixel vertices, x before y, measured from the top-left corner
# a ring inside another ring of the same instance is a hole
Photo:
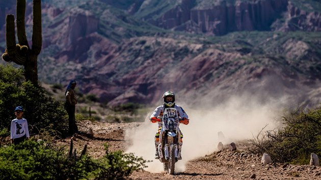
[[[146,167],[142,158],[121,151],[110,153],[108,146],[99,159],[87,156],[86,147],[80,156],[65,152],[34,140],[0,147],[0,179],[119,179]]]

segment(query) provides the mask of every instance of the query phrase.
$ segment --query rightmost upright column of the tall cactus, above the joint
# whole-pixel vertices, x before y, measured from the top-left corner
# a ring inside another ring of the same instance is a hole
[[[39,55],[42,46],[41,30],[41,1],[33,1],[33,34],[32,34],[32,51]]]

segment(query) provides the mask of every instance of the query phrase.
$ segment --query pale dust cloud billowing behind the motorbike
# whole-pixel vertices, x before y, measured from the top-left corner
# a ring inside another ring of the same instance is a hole
[[[221,105],[189,108],[184,102],[177,102],[189,115],[190,124],[180,125],[184,135],[182,146],[182,160],[175,166],[175,172],[185,170],[189,160],[209,155],[217,151],[221,141],[224,145],[238,140],[246,140],[256,136],[263,127],[272,130],[277,126],[276,117],[279,117],[281,99],[276,102],[262,104],[258,99],[250,96],[235,96],[229,98]],[[218,104],[218,103],[216,103]],[[152,113],[151,110],[150,114]],[[149,172],[162,172],[163,164],[154,159],[154,135],[157,124],[149,122],[150,114],[146,115],[145,122],[136,129],[126,131],[126,141],[131,145],[126,153],[134,153],[152,162],[146,163],[145,170]],[[218,136],[222,132],[224,137]]]

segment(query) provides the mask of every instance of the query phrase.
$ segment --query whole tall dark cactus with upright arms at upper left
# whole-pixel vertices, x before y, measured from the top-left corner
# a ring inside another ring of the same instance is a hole
[[[25,0],[17,0],[16,24],[18,44],[16,44],[14,15],[8,14],[6,17],[6,43],[7,49],[2,55],[6,62],[14,62],[23,65],[25,79],[30,80],[34,85],[38,85],[37,58],[42,46],[41,30],[41,0],[33,0],[33,34],[32,47],[29,47],[25,35]]]

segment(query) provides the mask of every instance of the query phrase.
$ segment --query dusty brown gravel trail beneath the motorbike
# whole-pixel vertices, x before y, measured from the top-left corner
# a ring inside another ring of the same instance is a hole
[[[79,129],[82,132],[87,132],[88,128],[92,128],[94,135],[93,137],[87,137],[82,134],[76,135],[74,137],[74,147],[81,151],[83,146],[87,144],[88,153],[93,157],[103,156],[105,152],[104,143],[110,145],[110,151],[120,149],[130,152],[132,143],[136,143],[136,141],[129,142],[128,133],[136,132],[142,126],[144,126],[144,123],[98,123],[83,121],[79,125]],[[145,131],[142,134],[146,135],[148,132]],[[151,140],[150,146],[152,147],[153,139],[151,138]],[[144,142],[144,139],[142,139],[142,142]],[[70,140],[69,138],[61,139],[57,143],[66,145],[70,143]],[[205,156],[179,162],[180,164],[177,164],[175,175],[162,172],[162,164],[152,159],[154,151],[146,152],[145,156],[149,157],[148,159],[153,160],[153,162],[147,164],[149,167],[146,171],[134,172],[130,175],[129,179],[249,179],[251,176],[255,176],[255,179],[321,179],[320,166],[263,165],[261,164],[261,155],[253,155],[246,151],[249,145],[247,141],[237,141],[235,143],[237,151],[228,151],[228,145],[225,144],[222,151],[218,152],[216,147],[213,147],[216,150],[208,152]],[[186,144],[188,144],[187,140]],[[145,146],[148,145],[145,144]],[[189,155],[183,154],[183,159],[188,158],[190,158]]]

